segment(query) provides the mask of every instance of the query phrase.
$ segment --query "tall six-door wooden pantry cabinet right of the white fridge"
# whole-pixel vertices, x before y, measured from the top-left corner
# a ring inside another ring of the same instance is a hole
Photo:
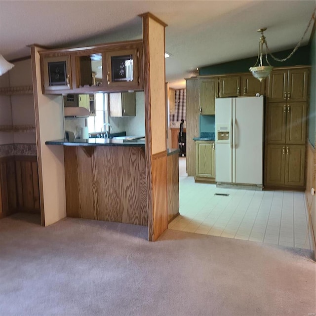
[[[306,67],[269,76],[265,186],[304,189],[308,77]]]

